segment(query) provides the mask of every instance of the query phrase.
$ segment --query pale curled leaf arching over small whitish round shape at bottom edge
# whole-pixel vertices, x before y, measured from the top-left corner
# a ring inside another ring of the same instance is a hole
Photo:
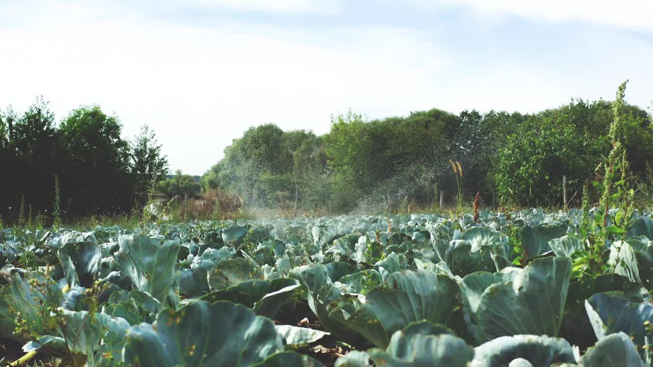
[[[475,348],[471,367],[505,367],[515,359],[525,359],[535,367],[553,363],[573,363],[571,345],[562,338],[548,336],[502,336]]]

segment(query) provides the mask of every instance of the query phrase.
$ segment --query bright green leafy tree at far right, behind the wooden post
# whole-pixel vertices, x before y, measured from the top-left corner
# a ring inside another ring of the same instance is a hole
[[[612,120],[611,104],[605,101],[577,100],[524,116],[498,152],[497,193],[518,204],[562,206],[562,176],[567,176],[572,193],[594,178],[611,148],[607,135]],[[650,118],[640,108],[624,105],[622,125],[631,170],[644,174],[653,161]]]

